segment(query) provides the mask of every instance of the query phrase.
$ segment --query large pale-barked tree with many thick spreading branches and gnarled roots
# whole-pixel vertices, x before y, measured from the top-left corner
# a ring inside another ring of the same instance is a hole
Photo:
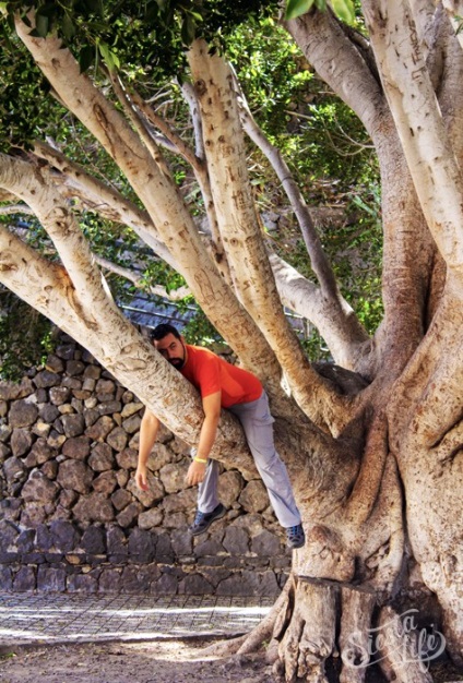
[[[72,24],[73,3],[59,5],[55,27],[49,4],[48,10],[41,4],[37,14],[31,7],[27,15],[16,11],[16,35],[59,106],[94,136],[127,185],[104,183],[44,140],[22,153],[3,153],[2,199],[20,200],[36,215],[59,261],[1,226],[0,280],[194,444],[202,421],[198,395],[112,302],[76,219],[79,211],[91,208],[130,227],[180,273],[240,361],[261,378],[308,540],[294,553],[290,579],[269,618],[239,643],[241,652],[270,639],[275,672],[286,681],[323,681],[329,660],[342,661],[340,680],[360,681],[369,654],[378,649],[388,675],[428,680],[419,657],[426,652],[412,651],[411,638],[423,635],[432,610],[407,612],[416,608],[417,595],[428,595],[440,607],[448,650],[460,661],[463,12],[458,2],[364,0],[361,32],[314,5],[285,22],[288,39],[290,34],[319,76],[355,111],[376,148],[384,315],[372,336],[341,295],[311,212],[283,156],[258,127],[225,56],[202,38],[193,40],[200,25],[193,5],[158,3],[173,10],[163,15],[164,25],[175,20],[174,9],[183,11],[182,40],[192,40],[180,85],[194,130],[189,142],[162,118],[155,98],[150,103],[135,92],[133,72],[130,83],[123,70],[116,72],[117,50],[107,43],[99,43],[107,79],[82,70],[88,65],[87,46],[81,64],[69,47],[85,28],[82,19]],[[122,17],[120,31],[133,25]],[[203,35],[211,38],[211,31]],[[14,49],[20,52],[12,38]],[[143,71],[143,88],[145,76]],[[269,158],[287,193],[316,284],[265,241],[245,134]],[[173,153],[199,184],[202,221],[173,178]],[[331,372],[310,364],[282,303],[318,328],[336,363]],[[226,414],[214,456],[252,467],[241,431]]]

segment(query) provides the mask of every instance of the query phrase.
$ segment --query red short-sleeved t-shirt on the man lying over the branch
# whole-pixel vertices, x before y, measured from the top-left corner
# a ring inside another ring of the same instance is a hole
[[[201,393],[201,397],[222,392],[222,407],[257,400],[262,384],[256,375],[236,368],[207,349],[186,345],[187,362],[181,374]]]

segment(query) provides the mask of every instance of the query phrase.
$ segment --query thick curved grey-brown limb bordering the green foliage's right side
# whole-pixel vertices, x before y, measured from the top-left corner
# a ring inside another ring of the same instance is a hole
[[[359,117],[375,144],[381,170],[384,320],[361,371],[400,374],[423,337],[423,302],[436,248],[414,192],[391,112],[368,44],[330,12],[309,12],[286,24],[310,64]]]

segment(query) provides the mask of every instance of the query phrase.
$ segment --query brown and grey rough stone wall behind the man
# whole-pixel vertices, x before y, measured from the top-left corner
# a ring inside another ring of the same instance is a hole
[[[163,429],[134,483],[143,406],[69,337],[0,383],[0,590],[274,595],[290,554],[260,479],[224,469],[229,508],[193,538],[187,444]]]

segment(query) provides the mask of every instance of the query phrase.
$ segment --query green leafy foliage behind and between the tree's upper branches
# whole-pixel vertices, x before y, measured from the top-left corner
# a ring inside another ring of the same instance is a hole
[[[288,3],[293,7],[295,3]],[[299,2],[299,9],[304,2]],[[319,3],[318,3],[319,4]],[[337,3],[340,4],[340,3]],[[100,2],[99,0],[63,0],[60,3],[1,3],[12,15],[27,8],[37,12],[36,35],[56,32],[111,97],[105,69],[118,69],[133,82],[144,97],[156,99],[162,113],[182,137],[192,136],[188,109],[181,101],[173,74],[181,73],[185,47],[195,35],[206,37],[214,49],[226,49],[252,111],[271,142],[278,146],[298,180],[308,204],[343,204],[347,213],[355,209],[357,220],[321,232],[333,267],[343,283],[343,293],[352,302],[368,329],[373,331],[381,316],[379,267],[381,231],[368,212],[371,192],[377,187],[376,160],[368,137],[353,112],[330,92],[314,74],[299,49],[288,40],[274,14],[277,3],[238,0],[207,3],[195,0],[146,0],[140,2]],[[336,3],[332,3],[336,10]],[[339,10],[337,13],[340,14]],[[26,20],[28,21],[28,20]],[[4,67],[0,81],[7,97],[0,104],[0,139],[7,145],[27,145],[35,136],[51,136],[73,160],[123,195],[138,201],[126,178],[85,128],[62,107],[45,97],[46,84],[17,38],[2,26],[0,56]],[[17,59],[20,57],[20,59]],[[164,88],[164,89],[163,89]],[[354,142],[355,141],[355,142]],[[249,149],[251,183],[261,211],[287,212],[287,200],[266,159]],[[173,176],[181,188],[191,213],[204,213],[201,194],[186,163],[165,153]],[[357,197],[357,199],[356,199]],[[377,211],[376,200],[373,200]],[[79,209],[79,207],[75,207]],[[130,267],[133,265],[135,236],[127,228],[103,219],[92,212],[81,213],[81,227],[95,253]],[[276,236],[280,253],[302,274],[312,277],[306,248],[293,216],[289,226]],[[55,257],[51,243],[41,228],[32,221],[29,240]],[[359,265],[360,264],[360,265]],[[364,265],[365,264],[365,265]],[[166,264],[144,252],[136,253],[136,265],[144,275],[146,290],[154,284],[167,290],[185,285],[183,279]],[[115,297],[123,300],[127,284],[109,276]],[[189,304],[186,301],[185,305]],[[199,312],[188,323],[189,340],[209,343],[216,331]],[[323,342],[313,332],[306,346],[312,358],[323,357]]]

